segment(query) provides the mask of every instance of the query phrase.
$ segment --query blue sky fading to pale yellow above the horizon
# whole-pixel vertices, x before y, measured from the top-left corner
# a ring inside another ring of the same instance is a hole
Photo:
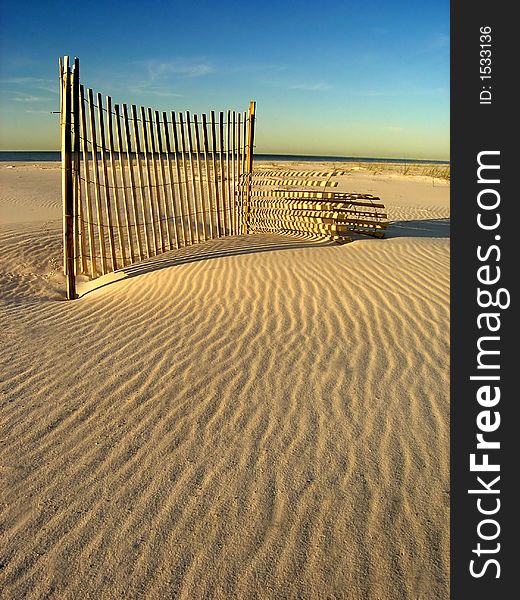
[[[59,148],[58,57],[114,102],[246,110],[256,152],[449,158],[448,0],[0,0],[0,149]]]

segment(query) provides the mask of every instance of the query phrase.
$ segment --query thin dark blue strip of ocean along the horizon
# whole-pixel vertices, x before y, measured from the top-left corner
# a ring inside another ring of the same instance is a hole
[[[0,162],[54,162],[61,160],[59,151],[0,151]],[[360,156],[311,156],[299,154],[255,154],[254,160],[298,162],[382,162],[447,165],[447,160],[421,160],[415,158],[377,158]]]

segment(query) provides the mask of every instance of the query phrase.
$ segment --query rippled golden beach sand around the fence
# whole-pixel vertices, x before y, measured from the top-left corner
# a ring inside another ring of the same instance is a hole
[[[449,185],[341,185],[387,239],[221,239],[65,302],[59,167],[0,166],[2,598],[448,598]]]

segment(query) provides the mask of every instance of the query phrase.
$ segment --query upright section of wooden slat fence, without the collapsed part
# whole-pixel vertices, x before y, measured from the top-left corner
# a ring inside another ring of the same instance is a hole
[[[78,59],[72,69],[68,58],[60,59],[59,78],[62,138],[72,141],[69,297],[76,276],[94,279],[174,248],[241,233],[249,143],[241,114],[160,113],[103,100],[80,84]],[[63,102],[69,96],[72,101]]]

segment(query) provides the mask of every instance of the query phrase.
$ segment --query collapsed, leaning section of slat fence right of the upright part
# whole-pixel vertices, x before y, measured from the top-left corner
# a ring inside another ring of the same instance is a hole
[[[248,231],[326,237],[338,242],[352,234],[383,237],[384,204],[370,194],[336,192],[344,171],[256,168],[251,177]]]

